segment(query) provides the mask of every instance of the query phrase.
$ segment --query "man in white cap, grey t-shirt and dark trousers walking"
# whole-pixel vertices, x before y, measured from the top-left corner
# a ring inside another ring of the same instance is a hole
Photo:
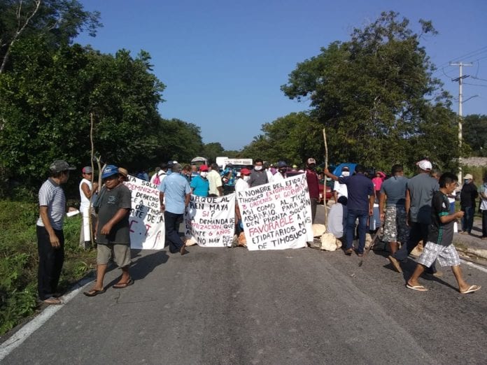
[[[407,222],[411,228],[409,239],[407,245],[402,245],[400,250],[389,256],[390,263],[393,264],[399,273],[402,273],[400,262],[407,259],[419,241],[423,241],[424,245],[428,242],[431,201],[433,194],[439,190],[438,180],[430,176],[430,171],[433,167],[431,162],[428,159],[422,159],[416,163],[416,166],[418,166],[419,173],[407,182],[406,200],[404,203]],[[432,264],[427,272],[437,276],[441,275],[441,273],[437,273],[435,264]]]

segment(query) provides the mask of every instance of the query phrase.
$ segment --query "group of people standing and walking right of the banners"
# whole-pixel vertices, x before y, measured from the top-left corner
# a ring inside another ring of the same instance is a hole
[[[423,242],[423,252],[418,259],[416,270],[407,281],[407,287],[425,292],[428,289],[418,282],[419,276],[426,271],[431,275],[441,276],[435,262],[441,266],[451,266],[458,282],[460,293],[467,294],[480,289],[479,285],[469,285],[463,280],[460,259],[453,245],[453,230],[457,220],[462,219],[463,234],[471,234],[477,187],[472,175],[467,174],[460,191],[461,210],[455,212],[451,206],[451,196],[458,187],[458,178],[453,173],[439,173],[432,169],[432,164],[423,159],[416,164],[418,174],[413,178],[404,177],[403,167],[395,164],[390,178],[384,173],[376,173],[371,180],[365,176],[365,168],[355,166],[355,174],[349,175],[344,169],[341,176],[335,176],[325,169],[327,177],[335,180],[335,200],[338,208],[332,206],[328,218],[329,230],[345,243],[345,254],[353,253],[353,238],[358,220],[358,247],[355,252],[364,255],[365,234],[368,221],[374,210],[374,203],[379,203],[379,216],[383,222],[383,241],[388,242],[388,259],[395,270],[402,273],[402,262],[418,243]],[[486,237],[487,214],[487,176],[479,189],[483,214],[483,234]],[[340,227],[340,223],[342,227]]]

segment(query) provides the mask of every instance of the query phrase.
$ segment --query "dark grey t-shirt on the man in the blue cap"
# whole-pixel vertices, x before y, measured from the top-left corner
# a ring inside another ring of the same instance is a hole
[[[132,207],[130,189],[119,184],[111,190],[104,188],[104,192],[100,194],[103,195],[101,195],[98,210],[97,243],[99,245],[108,245],[108,243],[130,245],[129,210]],[[113,226],[109,234],[101,234],[101,228],[112,219],[120,208],[128,209],[127,215]]]

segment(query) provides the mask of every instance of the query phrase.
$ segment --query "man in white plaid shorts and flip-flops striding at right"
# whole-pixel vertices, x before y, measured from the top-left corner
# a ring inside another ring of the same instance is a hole
[[[458,282],[458,291],[462,294],[477,292],[480,285],[469,285],[463,280],[460,258],[453,245],[453,224],[463,217],[463,211],[450,214],[448,195],[456,188],[458,178],[453,173],[444,173],[439,178],[439,191],[435,192],[431,203],[431,224],[428,230],[428,243],[418,259],[413,275],[407,281],[409,289],[426,292],[428,289],[418,282],[418,278],[437,259],[442,266],[451,266],[451,271]]]

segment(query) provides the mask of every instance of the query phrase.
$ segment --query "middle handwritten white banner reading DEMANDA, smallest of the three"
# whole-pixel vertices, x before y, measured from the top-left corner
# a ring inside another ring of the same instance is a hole
[[[235,194],[210,198],[191,195],[185,213],[185,236],[202,247],[232,245],[235,229]]]

